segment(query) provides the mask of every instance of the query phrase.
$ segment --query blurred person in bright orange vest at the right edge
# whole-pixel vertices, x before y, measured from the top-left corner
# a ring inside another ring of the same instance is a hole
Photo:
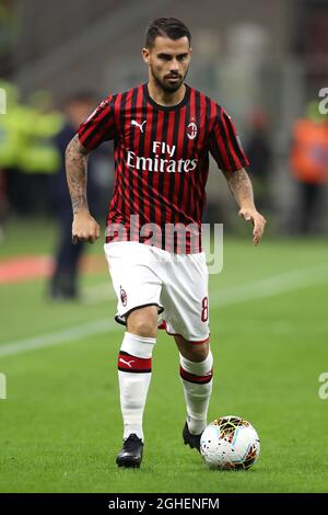
[[[328,182],[328,116],[319,113],[316,100],[307,105],[306,116],[294,124],[290,164],[300,188],[296,229],[306,233],[313,229],[323,185]]]

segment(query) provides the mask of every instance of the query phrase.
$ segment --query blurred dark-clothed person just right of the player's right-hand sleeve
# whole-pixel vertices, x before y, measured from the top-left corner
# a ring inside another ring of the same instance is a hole
[[[268,179],[272,158],[268,117],[262,110],[255,108],[249,114],[247,122],[248,138],[245,151],[250,162],[256,204],[260,210],[263,210],[269,207],[270,203]]]

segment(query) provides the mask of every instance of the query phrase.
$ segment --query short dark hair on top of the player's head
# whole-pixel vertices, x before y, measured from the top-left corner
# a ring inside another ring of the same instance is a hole
[[[154,20],[145,33],[145,47],[151,48],[154,46],[157,36],[169,37],[171,39],[179,39],[186,36],[188,37],[189,45],[191,44],[189,28],[176,18],[157,18],[157,20]]]

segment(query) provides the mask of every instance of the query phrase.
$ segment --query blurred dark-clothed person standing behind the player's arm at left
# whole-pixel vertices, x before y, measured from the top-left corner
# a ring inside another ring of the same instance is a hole
[[[81,123],[87,118],[96,104],[97,102],[91,93],[79,93],[70,98],[65,105],[66,123],[55,138],[61,159],[58,172],[50,178],[50,194],[60,233],[49,296],[56,300],[78,298],[78,270],[84,249],[83,242],[80,241],[73,245],[71,240],[72,206],[66,180],[65,151]],[[92,159],[89,159],[87,168],[87,199],[91,210],[93,210],[92,206],[96,203],[97,187],[93,178]]]

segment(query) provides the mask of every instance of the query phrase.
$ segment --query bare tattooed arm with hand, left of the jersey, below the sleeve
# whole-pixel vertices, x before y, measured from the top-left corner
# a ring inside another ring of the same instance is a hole
[[[73,209],[72,242],[93,243],[101,236],[101,228],[91,216],[86,199],[89,150],[74,136],[66,149],[66,175]]]

